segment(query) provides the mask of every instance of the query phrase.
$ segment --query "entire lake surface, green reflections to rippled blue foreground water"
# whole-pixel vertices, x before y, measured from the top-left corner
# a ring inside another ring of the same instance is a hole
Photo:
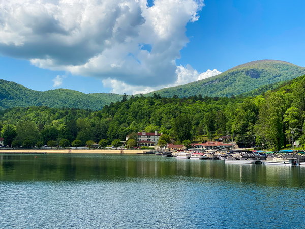
[[[0,155],[0,228],[304,228],[304,194],[305,167]]]

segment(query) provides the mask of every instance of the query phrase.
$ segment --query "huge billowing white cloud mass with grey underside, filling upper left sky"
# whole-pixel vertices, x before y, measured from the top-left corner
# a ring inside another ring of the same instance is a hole
[[[156,88],[196,80],[206,75],[175,60],[189,42],[187,23],[199,19],[203,6],[203,0],[155,0],[152,7],[146,0],[1,0],[0,54],[106,84]]]

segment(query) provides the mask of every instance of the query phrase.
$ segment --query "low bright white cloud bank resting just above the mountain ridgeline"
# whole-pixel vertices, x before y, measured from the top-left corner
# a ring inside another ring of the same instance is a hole
[[[208,69],[206,72],[198,73],[190,65],[187,65],[186,67],[180,65],[177,66],[177,70],[176,70],[177,80],[174,83],[170,83],[170,84],[158,85],[156,87],[150,87],[150,86],[142,87],[142,86],[130,85],[125,82],[111,78],[104,79],[103,84],[104,87],[112,88],[111,90],[112,93],[123,94],[125,92],[128,95],[134,95],[140,93],[145,94],[162,88],[175,87],[193,81],[206,79],[218,75],[220,73],[221,72],[217,71],[216,69],[214,70]]]

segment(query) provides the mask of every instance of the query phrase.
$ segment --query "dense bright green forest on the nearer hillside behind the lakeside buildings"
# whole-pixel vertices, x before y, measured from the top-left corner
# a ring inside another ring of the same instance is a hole
[[[105,139],[125,140],[142,130],[162,132],[178,142],[195,136],[230,135],[238,142],[254,140],[260,147],[280,148],[292,137],[304,143],[305,76],[256,97],[242,95],[188,98],[131,97],[105,105],[102,110],[31,106],[0,113],[1,135],[14,146],[54,145],[63,140],[86,144]],[[299,130],[297,130],[299,129]],[[24,144],[24,142],[26,144]]]

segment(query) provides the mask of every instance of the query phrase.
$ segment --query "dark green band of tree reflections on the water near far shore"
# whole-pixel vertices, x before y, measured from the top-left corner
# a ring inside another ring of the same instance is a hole
[[[200,177],[269,186],[305,185],[302,167],[225,164],[155,155],[1,155],[0,175],[3,181]]]

